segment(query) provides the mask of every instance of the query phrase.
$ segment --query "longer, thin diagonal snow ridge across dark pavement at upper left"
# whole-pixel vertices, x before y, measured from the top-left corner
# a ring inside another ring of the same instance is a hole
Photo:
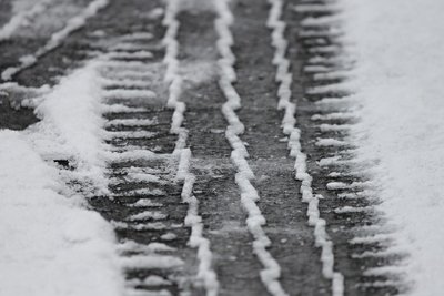
[[[54,50],[56,48],[60,47],[60,44],[68,35],[82,28],[85,24],[87,20],[95,16],[100,9],[108,6],[108,2],[109,0],[94,0],[90,2],[90,4],[79,16],[75,16],[70,20],[68,20],[67,25],[62,30],[53,33],[50,40],[42,48],[40,48],[34,54],[21,57],[20,65],[18,67],[7,68],[1,73],[1,79],[6,81],[11,80],[12,76],[19,73],[20,71],[36,64],[41,57],[43,57],[51,50]]]

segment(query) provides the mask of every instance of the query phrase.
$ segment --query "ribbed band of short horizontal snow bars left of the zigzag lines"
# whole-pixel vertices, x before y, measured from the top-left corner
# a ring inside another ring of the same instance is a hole
[[[183,183],[176,178],[181,160],[169,151],[175,139],[170,135],[172,112],[164,110],[159,98],[163,85],[153,79],[164,70],[149,51],[142,58],[131,54],[161,40],[143,31],[121,40],[102,58],[100,69],[105,81],[110,194],[91,204],[114,225],[125,295],[179,295],[192,289],[196,258],[186,247],[188,206],[181,201]]]

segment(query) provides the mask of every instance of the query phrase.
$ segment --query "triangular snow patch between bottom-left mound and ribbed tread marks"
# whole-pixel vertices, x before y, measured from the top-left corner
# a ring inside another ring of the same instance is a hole
[[[44,95],[36,109],[42,121],[29,129],[29,139],[46,160],[69,160],[77,169],[72,175],[92,181],[93,193],[105,193],[104,120],[97,67],[92,62],[74,71]]]

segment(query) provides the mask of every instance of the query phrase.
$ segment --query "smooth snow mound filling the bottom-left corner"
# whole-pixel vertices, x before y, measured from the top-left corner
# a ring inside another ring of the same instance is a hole
[[[121,295],[111,226],[59,193],[58,170],[26,134],[0,131],[0,294]]]

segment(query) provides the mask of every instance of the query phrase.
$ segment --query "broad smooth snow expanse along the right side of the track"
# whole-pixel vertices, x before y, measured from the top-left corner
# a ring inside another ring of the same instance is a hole
[[[380,210],[410,257],[410,295],[444,290],[444,20],[441,0],[342,0],[362,102],[359,155],[374,161]]]

